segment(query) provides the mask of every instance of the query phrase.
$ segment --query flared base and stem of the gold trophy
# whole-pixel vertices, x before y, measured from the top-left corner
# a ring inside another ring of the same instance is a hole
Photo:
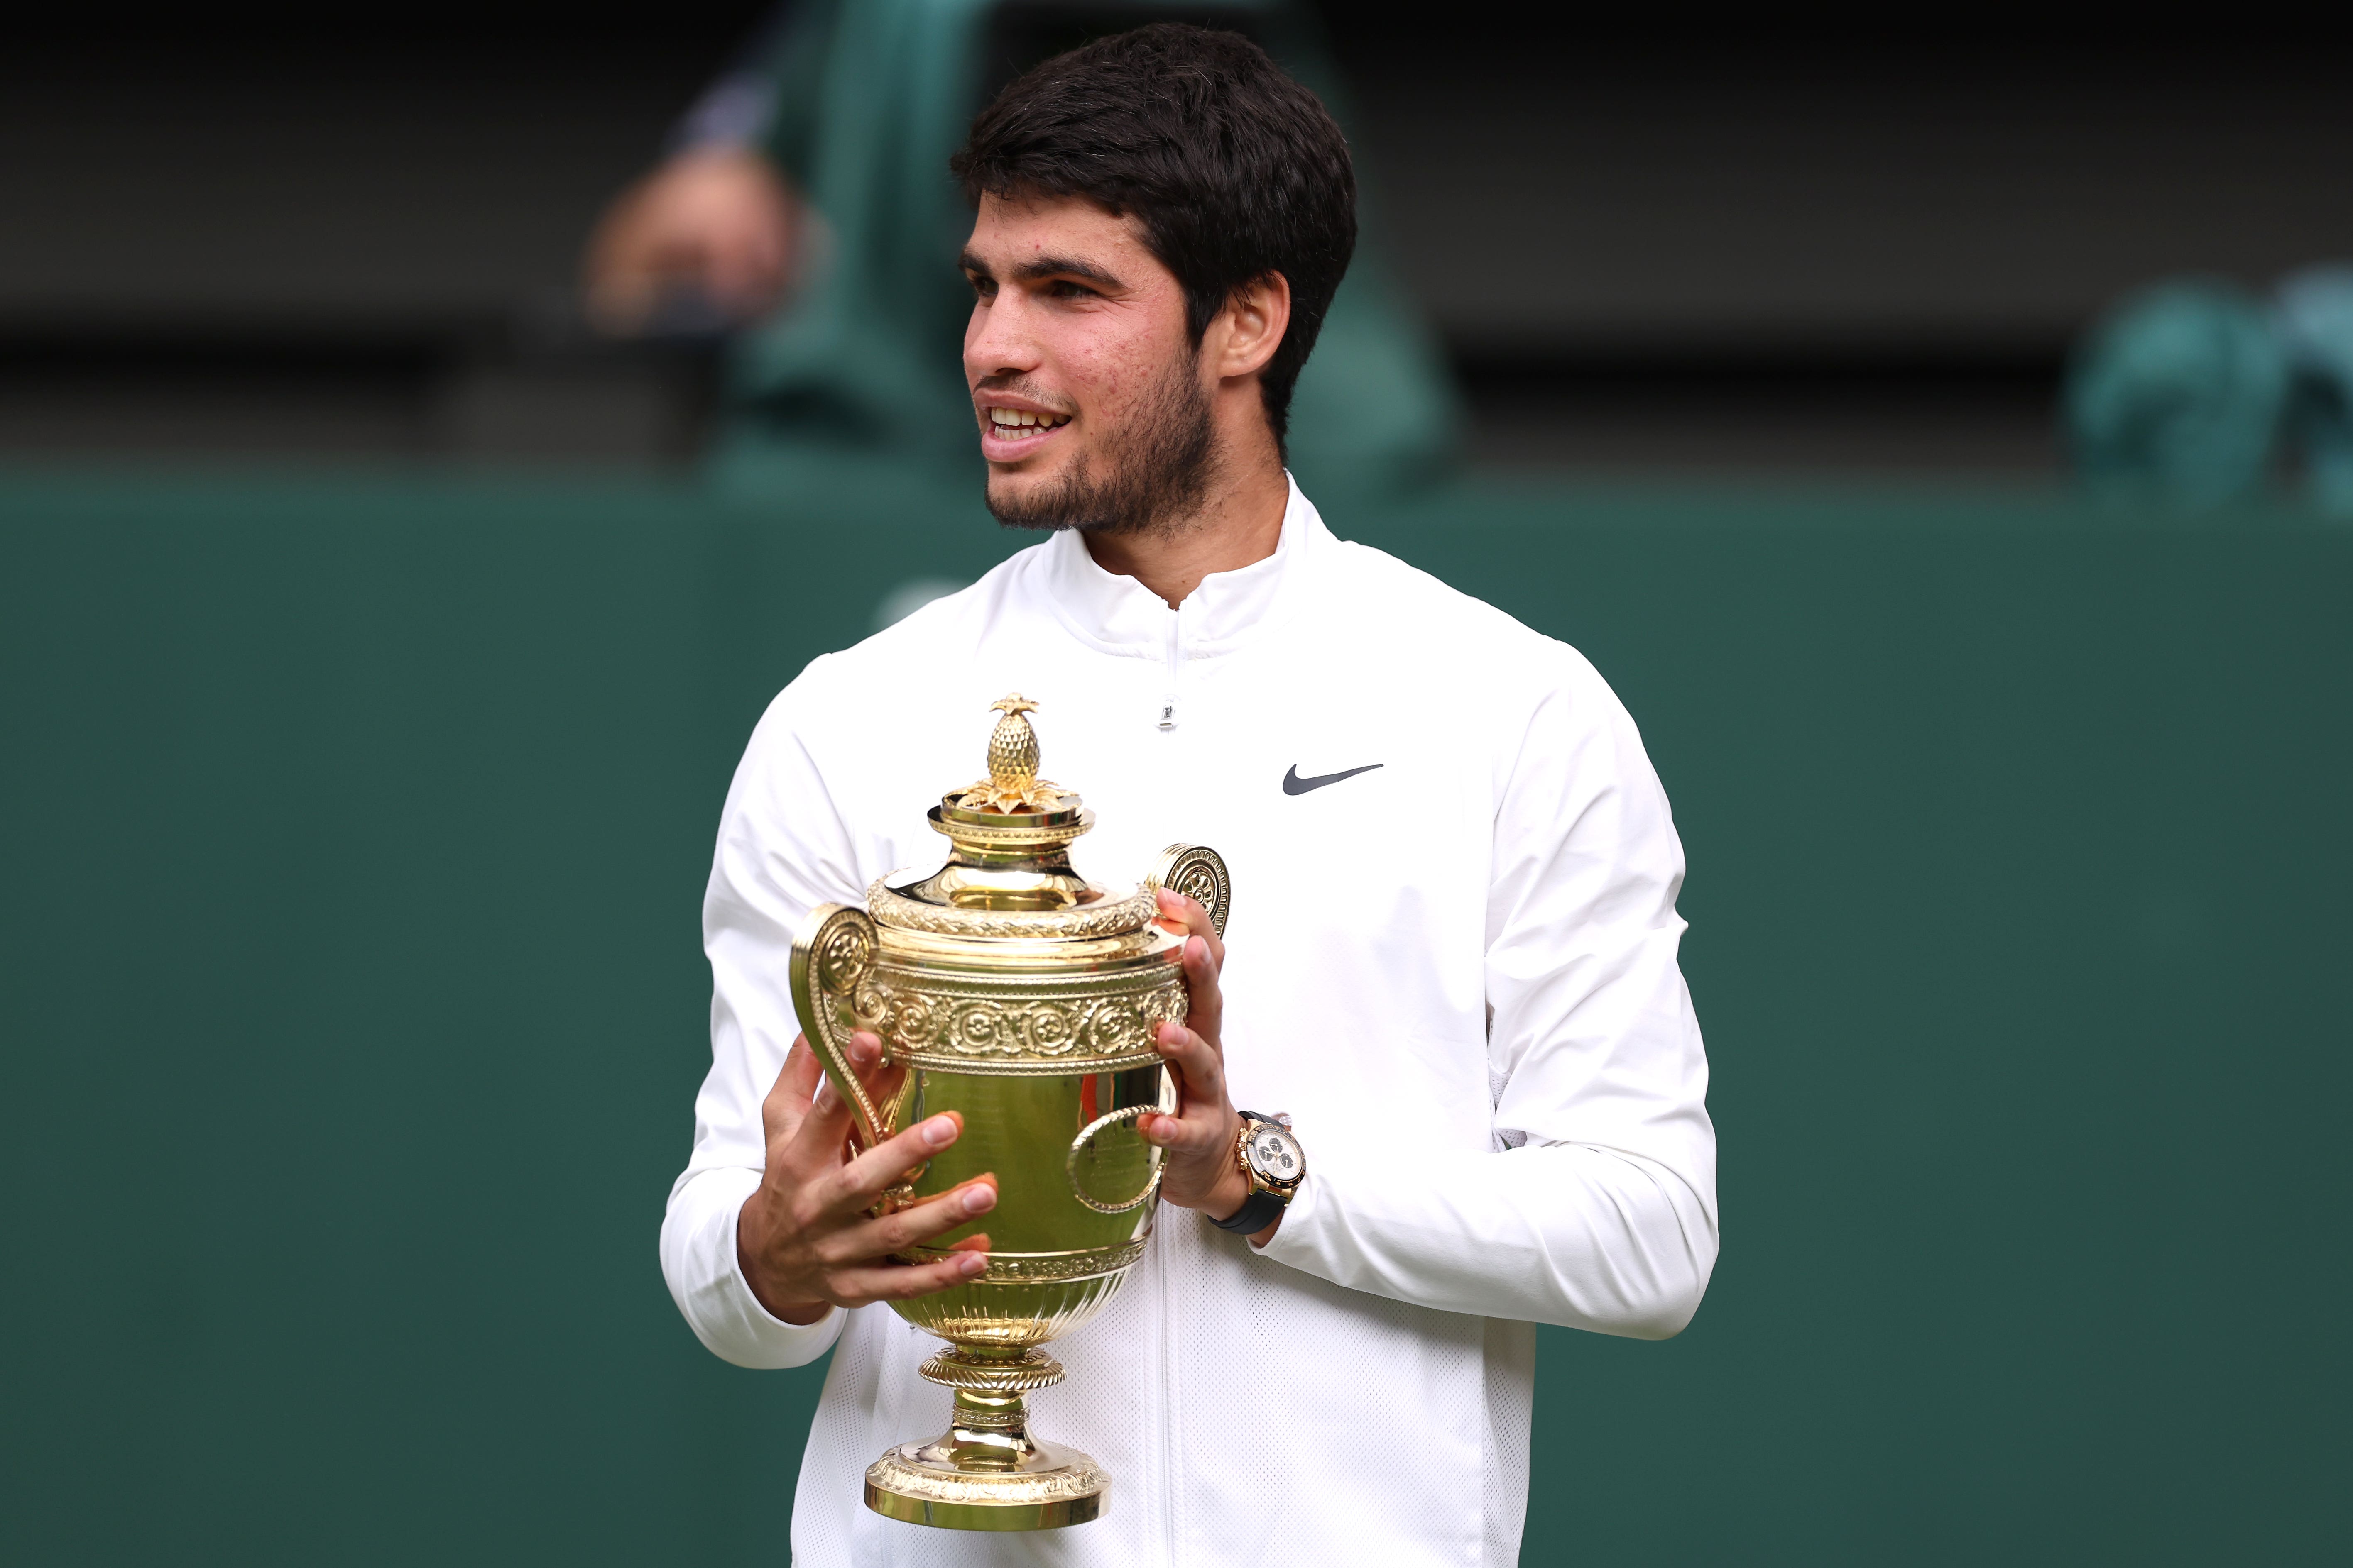
[[[925,1361],[922,1375],[955,1394],[948,1429],[875,1460],[866,1507],[948,1530],[1056,1530],[1104,1512],[1104,1467],[1028,1434],[1026,1394],[1061,1382],[1059,1361],[958,1345]]]

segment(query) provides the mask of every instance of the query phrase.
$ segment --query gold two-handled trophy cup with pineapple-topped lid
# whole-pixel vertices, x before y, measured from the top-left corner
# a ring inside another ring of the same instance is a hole
[[[988,1269],[892,1302],[948,1347],[922,1375],[953,1389],[948,1432],[899,1443],[866,1472],[866,1507],[951,1530],[1052,1530],[1101,1514],[1111,1479],[1075,1448],[1028,1434],[1028,1389],[1061,1382],[1040,1345],[1078,1328],[1144,1255],[1162,1152],[1136,1117],[1176,1110],[1155,1032],[1186,1016],[1184,938],[1155,924],[1153,889],[1198,898],[1226,929],[1231,884],[1212,849],[1172,844],[1136,891],[1071,870],[1094,825],[1078,795],[1038,778],[1019,693],[995,703],[988,778],[941,797],[953,844],[925,877],[892,872],[866,910],[819,905],[793,940],[793,1006],[835,1091],[852,1145],[962,1112],[953,1147],[908,1171],[875,1213],[998,1173],[998,1206],[901,1262],[934,1262],[988,1229]],[[852,1030],[906,1067],[875,1105],[849,1070]]]

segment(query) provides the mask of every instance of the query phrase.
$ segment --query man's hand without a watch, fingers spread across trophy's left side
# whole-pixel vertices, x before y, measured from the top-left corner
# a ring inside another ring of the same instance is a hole
[[[849,1037],[849,1063],[875,1100],[901,1072],[880,1070],[880,1060],[878,1037]],[[995,1175],[976,1175],[880,1220],[866,1213],[887,1187],[962,1135],[965,1119],[953,1110],[845,1161],[849,1105],[826,1081],[809,1041],[795,1039],[760,1105],[760,1121],[767,1171],[736,1211],[736,1262],[769,1314],[814,1324],[826,1307],[929,1295],[988,1267],[988,1237],[958,1241],[955,1255],[939,1262],[906,1265],[889,1255],[995,1208]]]

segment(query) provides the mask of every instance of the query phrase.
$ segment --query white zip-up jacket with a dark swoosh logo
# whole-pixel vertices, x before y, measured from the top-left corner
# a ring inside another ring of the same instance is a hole
[[[798,1034],[793,929],[941,860],[925,811],[981,771],[1007,691],[1040,703],[1040,771],[1096,813],[1085,875],[1132,884],[1176,839],[1226,856],[1233,1103],[1292,1114],[1308,1180],[1264,1251],[1160,1211],[1120,1295],[1054,1342],[1068,1380],[1031,1399],[1038,1436],[1111,1472],[1104,1516],[969,1535],[859,1500],[887,1446],[946,1427],[915,1375],[936,1340],[880,1305],[776,1321],[734,1229]],[[1715,1262],[1680,882],[1666,795],[1593,665],[1341,543],[1297,487],[1275,555],[1174,611],[1056,534],[814,661],[727,795],[711,1077],[661,1227],[713,1352],[835,1349],[793,1561],[1513,1563],[1534,1324],[1666,1338]]]

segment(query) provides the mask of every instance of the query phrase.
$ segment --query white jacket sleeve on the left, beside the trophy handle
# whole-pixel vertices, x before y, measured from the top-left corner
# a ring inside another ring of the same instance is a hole
[[[793,931],[819,903],[854,900],[859,886],[849,837],[793,710],[795,689],[786,689],[753,731],[720,816],[704,893],[711,1072],[694,1095],[694,1154],[661,1218],[661,1276],[694,1338],[760,1368],[814,1361],[842,1331],[838,1309],[807,1328],[769,1316],[734,1246],[736,1211],[767,1171],[760,1103],[800,1032],[786,980]]]

